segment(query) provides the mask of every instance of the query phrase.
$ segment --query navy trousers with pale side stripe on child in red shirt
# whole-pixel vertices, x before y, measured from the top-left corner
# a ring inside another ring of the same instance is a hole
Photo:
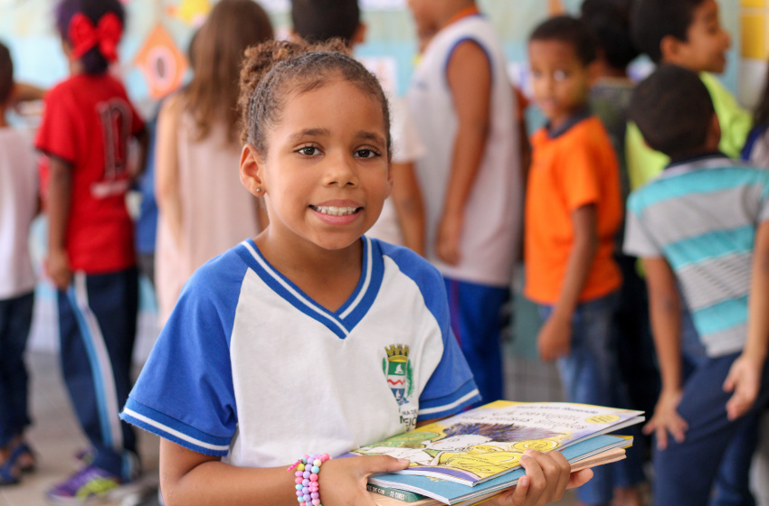
[[[136,337],[136,268],[117,273],[76,273],[59,292],[62,370],[83,431],[97,451],[93,464],[124,478],[135,473],[133,429],[119,419],[131,387]]]

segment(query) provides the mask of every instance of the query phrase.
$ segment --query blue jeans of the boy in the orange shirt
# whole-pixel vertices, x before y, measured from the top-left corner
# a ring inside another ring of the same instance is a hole
[[[622,385],[617,366],[614,312],[619,295],[593,299],[577,305],[572,316],[571,352],[557,361],[565,397],[569,402],[627,408],[628,394]],[[553,306],[542,305],[539,314],[545,321]],[[641,440],[638,426],[628,427],[623,434]],[[622,431],[618,431],[622,433]],[[629,487],[644,480],[641,445],[632,445],[627,458],[593,468],[593,479],[576,490],[586,504],[608,504],[614,489]]]

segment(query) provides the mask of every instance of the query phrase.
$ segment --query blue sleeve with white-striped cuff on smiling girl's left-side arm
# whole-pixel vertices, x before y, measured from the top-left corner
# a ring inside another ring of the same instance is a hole
[[[229,263],[214,259],[186,284],[120,415],[218,456],[228,453],[238,421],[229,340],[242,274]]]

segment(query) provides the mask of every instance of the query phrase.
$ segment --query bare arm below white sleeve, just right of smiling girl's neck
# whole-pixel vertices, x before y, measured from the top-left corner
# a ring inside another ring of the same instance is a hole
[[[424,257],[424,205],[413,164],[393,164],[393,176],[393,205],[403,242]]]

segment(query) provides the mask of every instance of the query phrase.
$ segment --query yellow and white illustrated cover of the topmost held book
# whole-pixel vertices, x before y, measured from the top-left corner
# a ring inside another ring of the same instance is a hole
[[[482,483],[519,466],[524,450],[548,452],[641,421],[640,411],[572,403],[499,400],[358,448],[411,466],[399,473]]]

